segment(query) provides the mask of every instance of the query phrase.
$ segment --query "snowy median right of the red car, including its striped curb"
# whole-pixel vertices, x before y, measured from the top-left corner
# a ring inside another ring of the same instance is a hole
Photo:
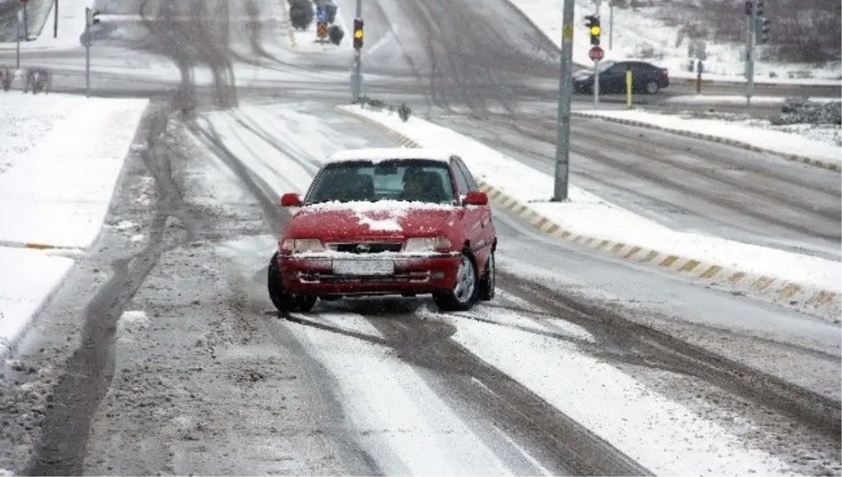
[[[359,106],[338,110],[380,127],[408,147],[452,149],[493,199],[536,228],[635,263],[764,296],[782,305],[834,313],[842,295],[842,263],[734,240],[682,233],[602,201],[571,186],[569,202],[549,202],[553,178],[420,118]],[[796,301],[797,303],[790,303]],[[833,316],[833,314],[829,315]]]

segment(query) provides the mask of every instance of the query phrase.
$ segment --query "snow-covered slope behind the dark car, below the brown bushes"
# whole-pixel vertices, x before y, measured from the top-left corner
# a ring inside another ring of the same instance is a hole
[[[510,0],[515,7],[529,17],[536,26],[557,45],[562,39],[562,12],[564,0]],[[582,65],[590,65],[588,57],[590,40],[587,27],[584,26],[584,16],[594,13],[592,0],[576,0],[576,15],[573,34],[573,60]],[[739,11],[738,13],[742,13]],[[652,61],[669,69],[672,77],[695,77],[695,73],[688,70],[690,57],[688,56],[687,40],[679,43],[678,29],[664,24],[654,18],[647,18],[631,8],[614,9],[613,49],[609,50],[609,8],[603,2],[600,17],[603,29],[601,46],[606,50],[606,59],[624,59],[628,57]],[[773,20],[774,22],[774,20]],[[773,27],[774,28],[774,27]],[[744,63],[742,60],[743,45],[707,44],[705,61],[705,78],[712,80],[735,80],[743,76]],[[649,53],[649,55],[644,55]],[[647,58],[647,56],[650,56]],[[812,79],[791,79],[797,71],[812,70]],[[775,73],[776,77],[770,77]],[[758,82],[794,82],[816,84],[831,82],[842,85],[842,63],[825,68],[806,68],[803,65],[772,64],[764,61],[755,66],[755,81]],[[832,81],[835,80],[835,81]]]

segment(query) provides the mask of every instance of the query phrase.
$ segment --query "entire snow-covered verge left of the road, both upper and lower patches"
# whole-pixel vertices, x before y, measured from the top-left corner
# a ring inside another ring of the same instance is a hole
[[[0,93],[0,354],[99,235],[147,107],[140,99]]]

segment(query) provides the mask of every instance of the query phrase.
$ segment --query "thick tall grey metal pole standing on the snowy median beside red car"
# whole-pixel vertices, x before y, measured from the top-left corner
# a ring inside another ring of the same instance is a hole
[[[562,66],[558,78],[556,120],[556,181],[553,202],[568,200],[570,177],[570,102],[573,98],[573,8],[575,0],[564,0],[562,17]]]

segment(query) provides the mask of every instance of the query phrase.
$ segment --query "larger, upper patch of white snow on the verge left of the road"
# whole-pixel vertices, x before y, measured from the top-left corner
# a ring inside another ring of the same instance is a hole
[[[0,98],[23,102],[33,118],[57,118],[37,144],[5,156],[10,166],[0,174],[0,241],[87,248],[99,235],[148,100],[80,102],[54,94]],[[53,112],[68,107],[72,112],[66,115]],[[0,134],[14,135],[16,129]]]

